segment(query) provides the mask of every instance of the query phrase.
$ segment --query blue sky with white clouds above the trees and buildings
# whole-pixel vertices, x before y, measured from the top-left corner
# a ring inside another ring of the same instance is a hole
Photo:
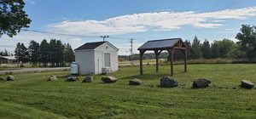
[[[15,52],[17,42],[28,47],[34,40],[51,38],[78,48],[85,42],[100,42],[104,35],[131,54],[148,40],[180,37],[201,42],[228,38],[236,42],[242,24],[254,25],[255,0],[25,0],[29,28],[15,37],[0,37],[0,51]],[[59,34],[42,33],[44,31]],[[61,35],[61,34],[70,34]]]

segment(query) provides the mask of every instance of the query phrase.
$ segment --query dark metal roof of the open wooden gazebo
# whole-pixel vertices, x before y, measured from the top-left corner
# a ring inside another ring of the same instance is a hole
[[[138,50],[151,50],[151,49],[162,49],[162,48],[172,48],[181,38],[170,38],[162,40],[153,40],[145,42]]]

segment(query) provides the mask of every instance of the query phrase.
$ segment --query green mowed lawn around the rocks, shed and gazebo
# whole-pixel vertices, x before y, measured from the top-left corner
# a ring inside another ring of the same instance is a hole
[[[64,82],[69,71],[15,74],[15,81],[0,82],[0,118],[256,118],[256,89],[239,87],[242,79],[256,82],[256,65],[175,65],[177,88],[160,88],[160,77],[170,66],[122,67],[108,76],[118,82],[105,84],[101,75],[90,83]],[[47,82],[54,74],[58,81]],[[6,77],[6,76],[2,76]],[[191,88],[206,77],[210,87]],[[129,86],[132,78],[141,86]]]

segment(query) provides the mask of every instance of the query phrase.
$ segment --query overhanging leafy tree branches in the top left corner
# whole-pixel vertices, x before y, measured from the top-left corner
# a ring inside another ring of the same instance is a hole
[[[22,27],[29,27],[31,20],[23,10],[24,5],[23,0],[0,1],[0,37],[3,34],[13,37]]]

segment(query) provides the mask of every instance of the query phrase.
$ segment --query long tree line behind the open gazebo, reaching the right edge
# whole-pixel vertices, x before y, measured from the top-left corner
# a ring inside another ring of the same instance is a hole
[[[188,59],[248,59],[254,61],[256,58],[256,26],[242,25],[240,32],[236,34],[238,42],[233,42],[224,38],[221,41],[209,42],[205,39],[203,42],[195,36],[190,42],[184,41],[187,46]],[[131,60],[139,59],[139,54],[129,56],[119,55],[120,59]],[[154,59],[154,53],[144,54],[143,59]],[[164,52],[159,55],[160,59],[170,58],[169,54]],[[183,54],[178,50],[174,53],[174,59],[183,59]]]

